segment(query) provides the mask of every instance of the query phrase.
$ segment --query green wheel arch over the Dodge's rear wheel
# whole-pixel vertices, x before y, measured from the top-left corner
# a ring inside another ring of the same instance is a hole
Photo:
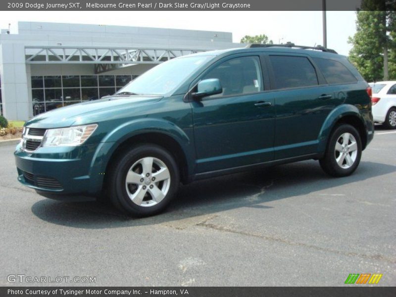
[[[336,123],[341,118],[343,118],[345,116],[350,116],[350,115],[357,117],[362,122],[362,124],[364,125],[364,127],[366,128],[366,131],[367,131],[366,122],[365,122],[363,116],[361,115],[361,113],[359,112],[359,109],[356,106],[351,105],[351,104],[341,104],[329,113],[329,115],[327,116],[326,120],[324,121],[324,123],[322,125],[322,128],[319,132],[319,137],[318,137],[318,141],[319,141],[318,151],[319,152],[324,152],[326,150],[327,140],[329,139],[330,133],[333,130]]]

